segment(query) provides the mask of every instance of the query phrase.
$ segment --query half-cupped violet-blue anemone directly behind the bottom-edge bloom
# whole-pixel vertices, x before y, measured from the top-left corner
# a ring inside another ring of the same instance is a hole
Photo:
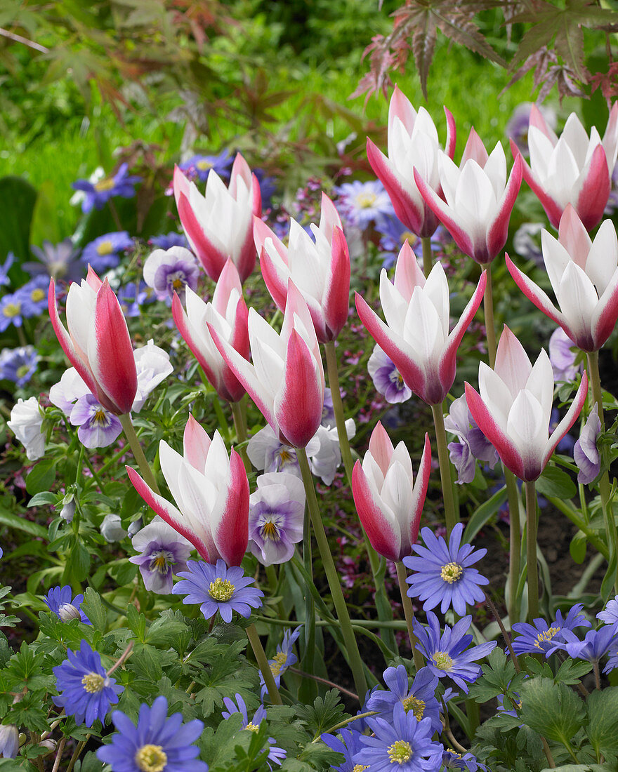
[[[436,699],[437,676],[429,668],[421,668],[414,676],[412,686],[408,684],[408,672],[404,665],[387,668],[384,682],[388,691],[376,689],[367,700],[366,710],[375,710],[382,718],[390,720],[393,710],[399,703],[406,713],[413,712],[417,721],[429,719],[434,732],[442,731],[440,704]]]

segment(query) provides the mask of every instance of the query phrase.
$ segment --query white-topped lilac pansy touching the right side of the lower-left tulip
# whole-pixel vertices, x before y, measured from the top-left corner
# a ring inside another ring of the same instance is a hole
[[[265,566],[285,563],[294,544],[303,538],[304,485],[287,472],[269,472],[257,478],[250,496],[250,550]]]

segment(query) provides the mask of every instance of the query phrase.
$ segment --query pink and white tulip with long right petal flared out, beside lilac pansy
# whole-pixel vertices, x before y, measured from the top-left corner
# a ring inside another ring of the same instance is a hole
[[[586,373],[569,410],[551,435],[554,375],[545,350],[533,366],[524,347],[505,325],[494,370],[480,362],[478,384],[480,394],[466,384],[466,400],[480,431],[514,475],[526,482],[537,479],[582,409],[588,390]]]

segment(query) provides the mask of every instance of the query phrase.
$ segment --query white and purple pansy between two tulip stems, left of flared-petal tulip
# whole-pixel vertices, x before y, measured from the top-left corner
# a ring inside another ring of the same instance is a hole
[[[498,461],[497,451],[474,421],[465,394],[453,400],[449,415],[444,419],[444,428],[460,440],[448,445],[450,460],[457,469],[458,483],[472,482],[476,473],[476,459],[494,469]]]

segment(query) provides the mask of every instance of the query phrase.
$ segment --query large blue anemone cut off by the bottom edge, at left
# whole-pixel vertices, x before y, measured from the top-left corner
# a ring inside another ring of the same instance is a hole
[[[137,726],[121,710],[112,721],[118,730],[110,745],[97,750],[97,758],[111,764],[113,772],[208,772],[192,743],[204,729],[202,721],[182,723],[182,713],[168,718],[168,701],[157,697],[152,707],[140,706]]]

